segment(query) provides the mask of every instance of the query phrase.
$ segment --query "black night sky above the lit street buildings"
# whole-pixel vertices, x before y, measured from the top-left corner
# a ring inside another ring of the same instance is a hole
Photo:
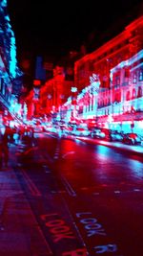
[[[60,58],[69,51],[78,51],[81,44],[92,40],[92,32],[97,37],[103,34],[118,20],[130,16],[141,2],[8,0],[17,55],[30,52]]]

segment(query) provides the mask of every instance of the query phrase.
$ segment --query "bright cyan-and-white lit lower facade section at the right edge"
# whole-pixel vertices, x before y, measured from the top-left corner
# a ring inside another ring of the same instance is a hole
[[[120,62],[111,70],[112,108],[109,118],[112,118],[112,122],[108,124],[110,128],[125,132],[143,132],[142,59],[143,50],[137,52],[132,58]]]

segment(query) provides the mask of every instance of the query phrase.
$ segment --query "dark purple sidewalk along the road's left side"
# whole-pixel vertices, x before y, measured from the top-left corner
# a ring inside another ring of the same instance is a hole
[[[16,147],[11,145],[9,168],[0,170],[0,255],[52,255],[49,244],[31,212],[14,166]]]

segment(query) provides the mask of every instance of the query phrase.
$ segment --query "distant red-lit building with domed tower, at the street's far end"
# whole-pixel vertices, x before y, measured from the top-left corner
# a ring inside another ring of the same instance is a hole
[[[73,81],[65,79],[64,68],[56,66],[53,69],[53,78],[42,86],[34,84],[33,89],[26,98],[28,106],[28,119],[47,115],[49,120],[62,119],[63,107],[61,107],[71,94]]]

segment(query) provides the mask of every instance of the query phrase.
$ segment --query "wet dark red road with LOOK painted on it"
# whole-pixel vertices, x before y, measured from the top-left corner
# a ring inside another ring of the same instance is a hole
[[[50,135],[22,151],[15,172],[52,255],[143,255],[141,159]]]

